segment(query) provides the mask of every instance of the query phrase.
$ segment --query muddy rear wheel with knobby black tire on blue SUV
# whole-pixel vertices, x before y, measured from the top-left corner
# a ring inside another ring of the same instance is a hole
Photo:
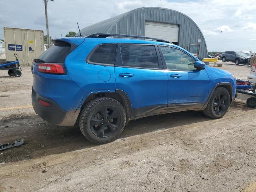
[[[79,115],[82,134],[95,144],[114,141],[124,130],[126,112],[120,102],[108,97],[90,101]]]

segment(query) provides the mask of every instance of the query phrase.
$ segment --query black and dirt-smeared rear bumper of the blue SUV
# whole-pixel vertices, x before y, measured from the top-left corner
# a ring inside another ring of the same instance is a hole
[[[49,102],[51,106],[42,106],[38,102],[39,99]],[[32,105],[38,116],[40,116],[42,119],[48,122],[51,122],[59,126],[74,126],[80,113],[80,109],[77,109],[75,112],[67,112],[62,110],[54,100],[40,96],[38,93],[34,91],[33,88]]]

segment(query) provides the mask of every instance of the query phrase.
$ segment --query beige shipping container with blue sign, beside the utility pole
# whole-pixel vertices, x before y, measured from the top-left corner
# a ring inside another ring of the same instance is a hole
[[[4,27],[6,61],[18,55],[21,66],[30,66],[44,52],[44,31]]]

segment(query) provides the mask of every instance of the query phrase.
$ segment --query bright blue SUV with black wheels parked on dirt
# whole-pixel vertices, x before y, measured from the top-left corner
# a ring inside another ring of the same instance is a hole
[[[33,108],[56,125],[78,122],[96,144],[146,116],[201,110],[221,118],[236,94],[232,74],[166,40],[92,34],[53,42],[32,65]]]

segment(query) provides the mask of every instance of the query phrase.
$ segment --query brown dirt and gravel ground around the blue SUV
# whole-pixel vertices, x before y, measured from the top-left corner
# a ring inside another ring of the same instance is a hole
[[[219,61],[221,62],[221,61]],[[226,62],[246,78],[250,67]],[[31,106],[32,74],[0,70],[0,191],[256,192],[256,109],[241,94],[218,120],[178,112],[130,121],[94,145],[77,127],[54,126]]]

